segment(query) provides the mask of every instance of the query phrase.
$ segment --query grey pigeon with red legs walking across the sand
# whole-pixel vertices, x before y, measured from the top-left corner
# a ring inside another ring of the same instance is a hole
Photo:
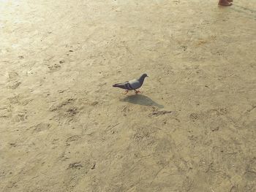
[[[146,73],[142,74],[138,79],[116,83],[113,85],[113,87],[125,89],[126,90],[125,94],[128,93],[128,91],[132,91],[132,90],[134,90],[135,93],[140,93],[140,91],[137,91],[136,89],[140,88],[143,85],[145,77],[148,77]]]

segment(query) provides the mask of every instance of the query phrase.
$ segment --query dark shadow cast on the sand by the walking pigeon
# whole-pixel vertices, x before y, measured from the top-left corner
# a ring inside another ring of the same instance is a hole
[[[120,99],[120,101],[132,103],[132,104],[140,104],[144,106],[155,106],[159,108],[164,108],[162,104],[158,104],[157,102],[150,99],[148,96],[143,96],[139,94],[127,96],[124,99]]]

